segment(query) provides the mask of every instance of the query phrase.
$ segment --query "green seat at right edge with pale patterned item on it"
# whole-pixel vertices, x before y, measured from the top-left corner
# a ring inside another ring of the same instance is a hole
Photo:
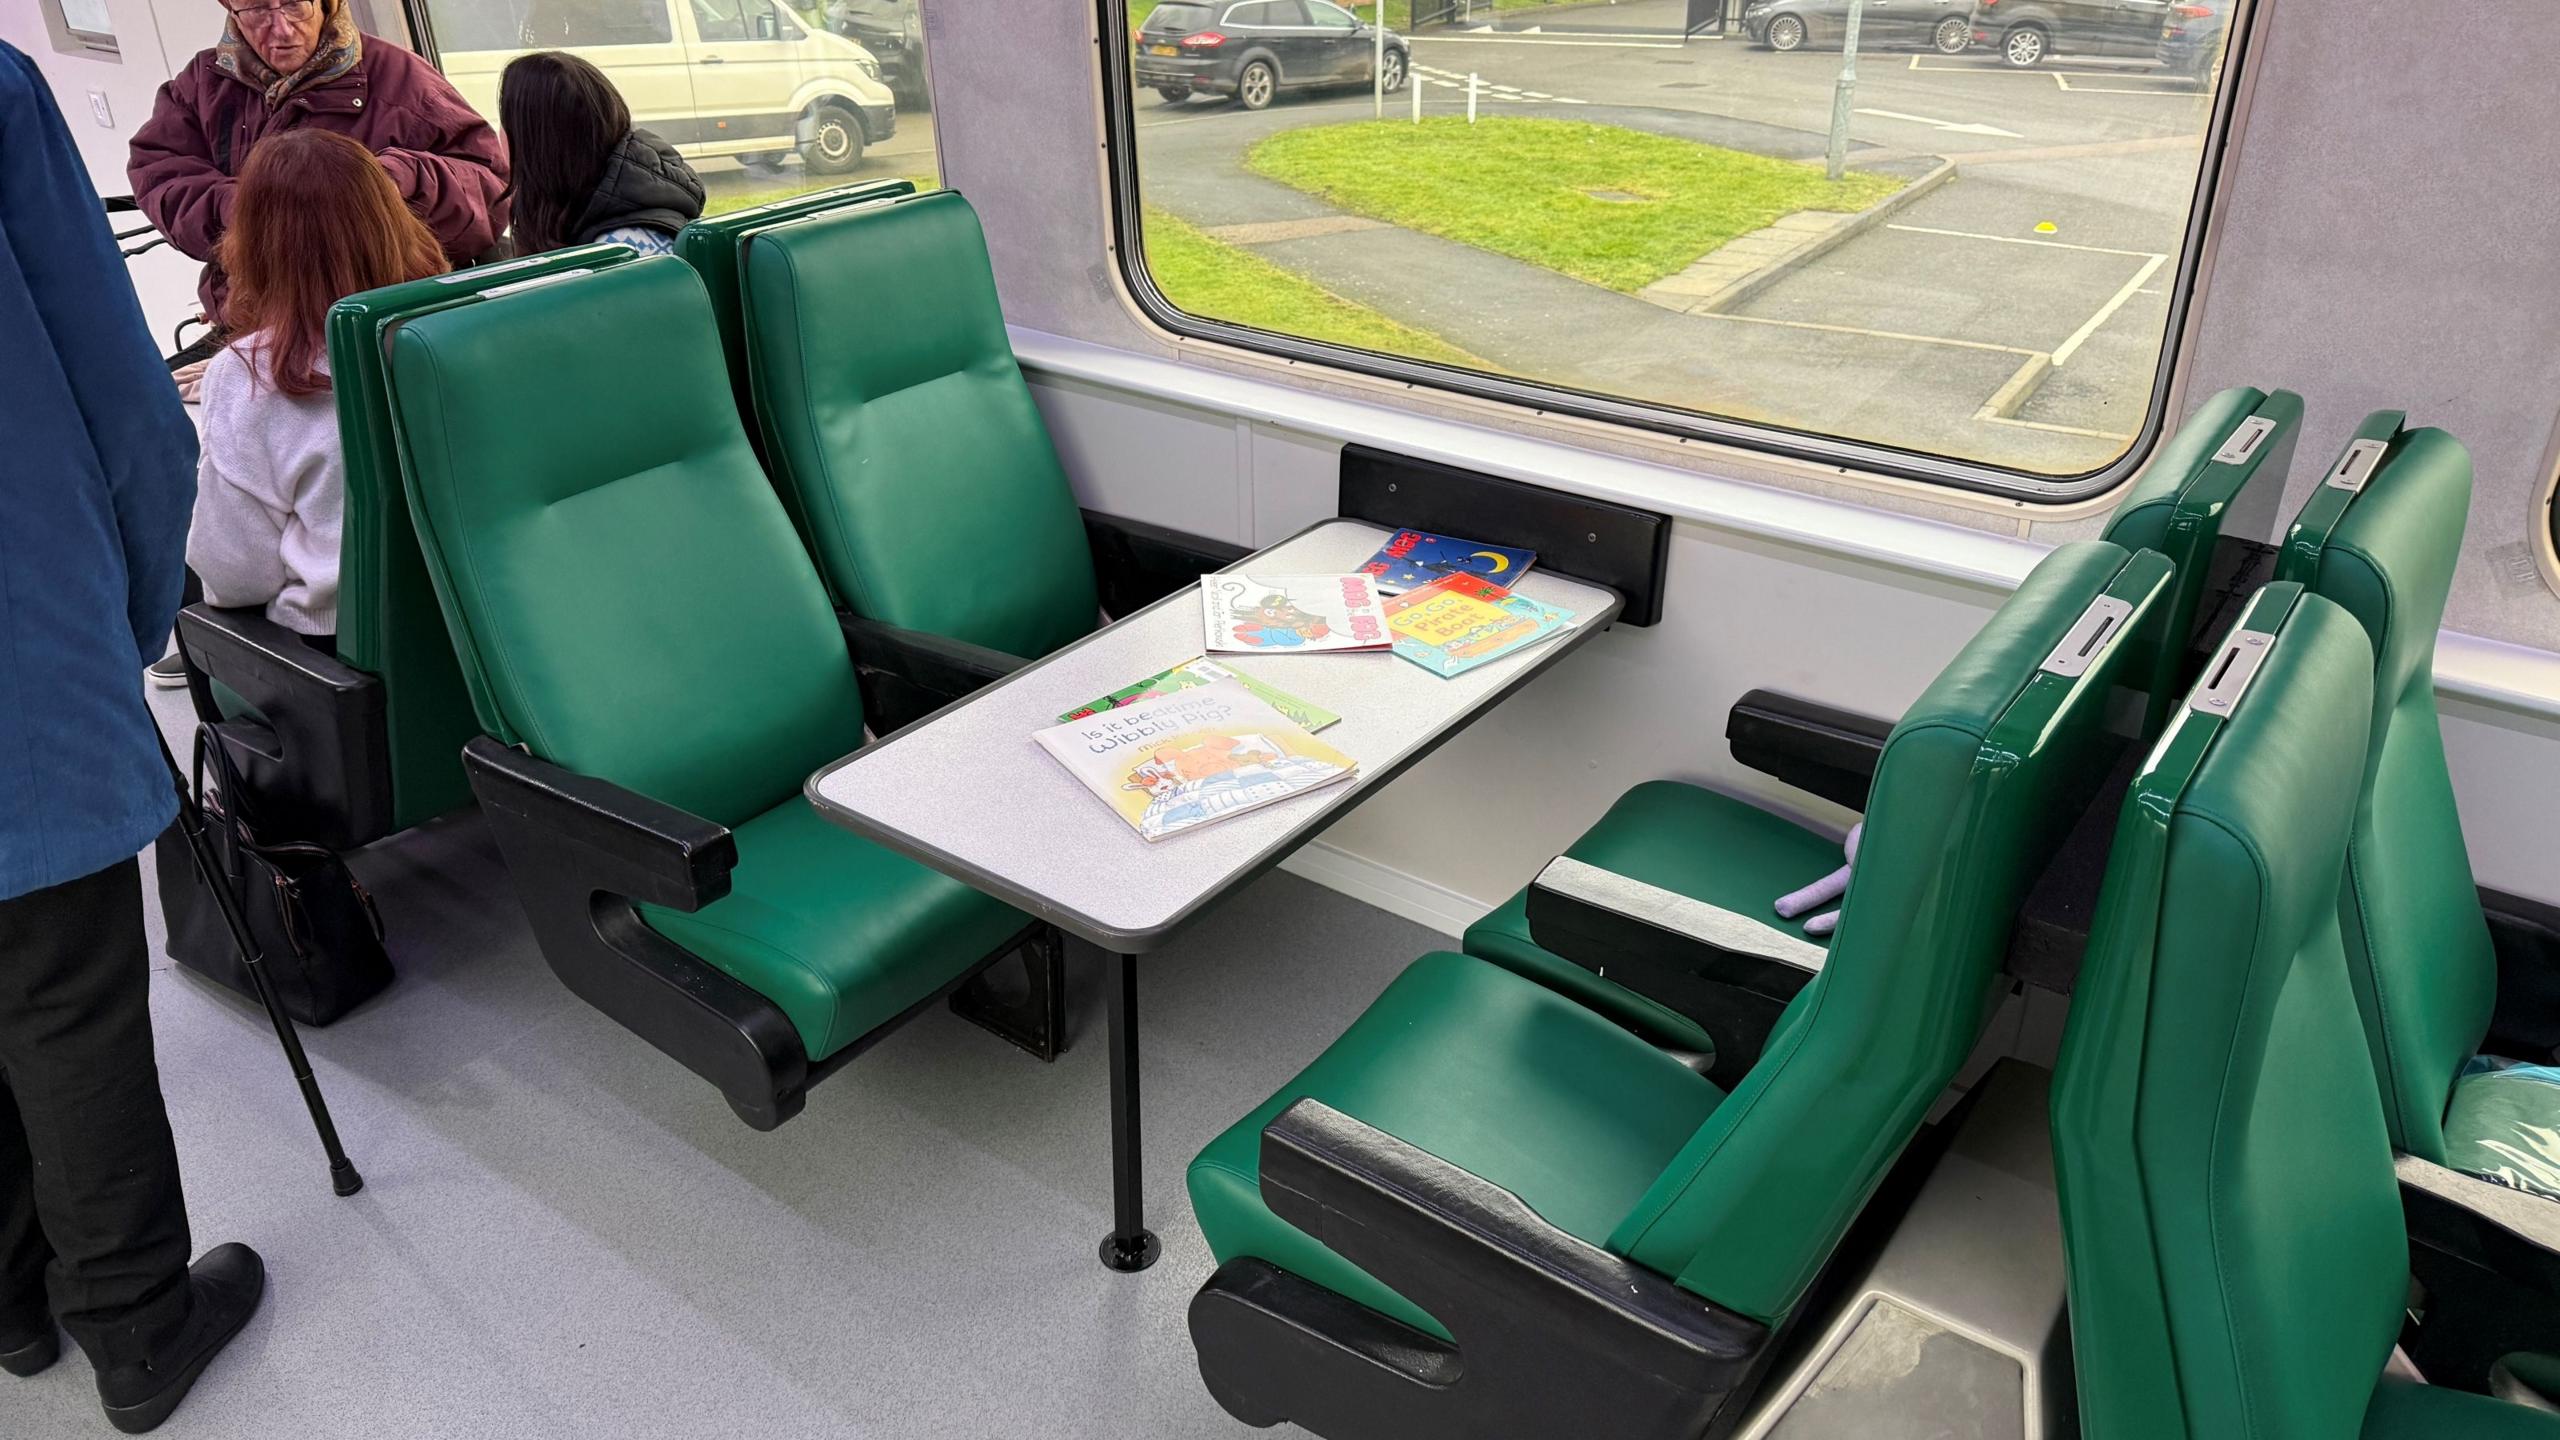
[[[2278,574],[2337,602],[2373,643],[2340,933],[2383,1120],[2409,1156],[2419,1281],[2509,1299],[2429,1320],[2412,1353],[2429,1376],[2481,1386],[2511,1361],[2532,1368],[2534,1350],[2560,1350],[2560,1325],[2534,1320],[2560,1297],[2560,1273],[2534,1273],[2529,1256],[2447,1212],[2437,1191],[2455,1181],[2442,1171],[2511,1186],[2560,1215],[2560,1071],[2550,1066],[2555,1017],[2534,1004],[2537,989],[2547,994],[2547,961],[2511,943],[2532,928],[2514,915],[2522,904],[2473,881],[2435,705],[2435,635],[2468,512],[2460,441],[2381,410],[2301,505]],[[2501,1004],[2501,971],[2527,981],[2519,1004]]]

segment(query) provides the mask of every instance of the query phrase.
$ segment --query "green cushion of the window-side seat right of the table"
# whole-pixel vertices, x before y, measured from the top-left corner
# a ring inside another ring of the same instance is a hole
[[[1802,920],[1779,920],[1777,897],[1802,889],[1843,863],[1841,843],[1830,835],[1731,794],[1669,779],[1646,781],[1620,794],[1618,805],[1610,805],[1608,815],[1564,853],[1795,935],[1802,935]],[[1828,943],[1823,935],[1805,935],[1805,940]],[[1715,1048],[1695,1020],[1541,951],[1528,938],[1526,889],[1469,925],[1459,945],[1469,956],[1590,1004],[1656,1045],[1700,1053]]]

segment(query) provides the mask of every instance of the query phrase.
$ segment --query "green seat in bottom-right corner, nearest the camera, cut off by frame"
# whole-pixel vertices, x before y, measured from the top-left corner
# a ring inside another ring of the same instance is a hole
[[[2355,620],[2271,584],[2120,810],[2051,1099],[2089,1440],[2560,1435],[2386,1379],[2412,1250],[2337,930],[2371,707]]]

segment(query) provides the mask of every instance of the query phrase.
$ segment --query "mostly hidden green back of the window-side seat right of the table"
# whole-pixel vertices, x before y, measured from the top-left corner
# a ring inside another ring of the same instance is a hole
[[[2220,459],[2248,420],[2268,420],[2273,430],[2245,456]],[[2212,582],[2214,543],[2225,528],[2258,541],[2273,530],[2273,505],[2284,492],[2284,471],[2294,459],[2301,428],[2301,397],[2291,389],[2237,384],[2202,405],[2143,466],[2143,477],[2107,518],[2104,538],[2127,551],[2161,551],[2176,566],[2161,643],[2150,656],[2150,728],[2158,728],[2184,689],[2179,664],[2204,607]],[[2266,484],[2253,484],[2260,474]]]

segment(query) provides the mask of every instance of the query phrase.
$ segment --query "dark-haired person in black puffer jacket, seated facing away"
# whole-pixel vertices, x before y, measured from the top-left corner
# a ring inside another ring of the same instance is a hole
[[[497,120],[515,164],[515,251],[612,241],[640,254],[676,249],[701,215],[701,177],[676,146],[632,128],[604,72],[573,54],[507,61]]]

